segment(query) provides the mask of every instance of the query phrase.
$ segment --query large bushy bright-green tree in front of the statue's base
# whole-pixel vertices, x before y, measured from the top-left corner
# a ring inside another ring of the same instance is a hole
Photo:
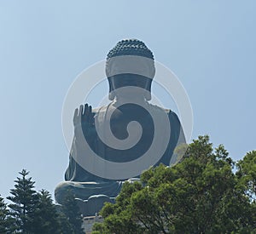
[[[235,163],[224,146],[213,149],[209,137],[200,136],[181,163],[150,168],[141,183],[126,182],[116,203],[102,208],[104,221],[93,233],[253,232],[255,203],[244,192],[255,188],[253,168],[244,163],[251,165],[251,157],[239,163],[250,174],[245,180],[233,173]]]

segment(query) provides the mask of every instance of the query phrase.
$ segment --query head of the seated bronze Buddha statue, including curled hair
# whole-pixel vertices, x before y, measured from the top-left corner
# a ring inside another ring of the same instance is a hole
[[[143,88],[144,98],[150,100],[154,73],[154,55],[142,41],[137,39],[120,41],[107,55],[109,100],[114,99],[115,89],[127,86]]]

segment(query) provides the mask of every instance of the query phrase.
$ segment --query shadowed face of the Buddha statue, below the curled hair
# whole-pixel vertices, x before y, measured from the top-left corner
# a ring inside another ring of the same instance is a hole
[[[154,72],[154,60],[143,56],[122,55],[108,59],[106,74],[108,76],[110,100],[113,100],[113,96],[117,98],[145,98],[150,100]],[[119,88],[122,89],[118,91]],[[149,94],[146,94],[147,92]]]

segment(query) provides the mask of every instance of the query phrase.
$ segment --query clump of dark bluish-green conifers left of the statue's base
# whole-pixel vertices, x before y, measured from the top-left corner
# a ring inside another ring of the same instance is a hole
[[[26,169],[15,180],[15,188],[7,197],[7,206],[0,197],[0,233],[25,234],[79,234],[82,217],[73,197],[61,208],[53,203],[49,191],[35,191],[34,184]]]

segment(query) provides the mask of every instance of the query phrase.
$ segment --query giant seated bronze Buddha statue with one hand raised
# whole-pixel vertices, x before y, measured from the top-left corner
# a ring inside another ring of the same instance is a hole
[[[119,60],[121,57],[131,59],[131,64],[133,63],[136,68],[131,69],[131,71],[129,68],[129,72],[124,72],[121,67],[124,61],[121,60],[120,62]],[[139,60],[134,62],[133,58]],[[165,151],[159,157],[160,160],[151,166],[157,166],[160,163],[170,166],[177,162],[177,155],[173,151],[177,145],[185,143],[183,128],[173,111],[154,106],[148,102],[151,99],[151,83],[154,73],[154,55],[143,42],[137,39],[122,40],[109,51],[106,74],[109,83],[108,98],[111,101],[108,106],[97,109],[92,109],[91,106],[85,104],[75,110],[73,146],[70,151],[65,181],[57,185],[55,189],[57,203],[61,204],[67,191],[71,191],[74,197],[78,198],[80,206],[83,206],[81,204],[84,203],[84,208],[82,208],[84,215],[95,214],[102,208],[104,202],[114,201],[123,181],[129,179],[113,180],[91,174],[76,161],[76,157],[86,158],[88,153],[80,150],[77,133],[79,128],[82,128],[84,139],[88,142],[91,150],[99,157],[110,162],[125,163],[147,154],[148,148],[154,140],[154,119],[150,112],[155,112],[159,116],[166,115],[172,129],[170,138]],[[127,87],[135,88],[122,89]],[[119,92],[119,89],[122,91]],[[111,112],[111,118],[107,121],[109,112]],[[127,125],[133,121],[139,123],[143,131],[137,144],[129,149],[108,146],[96,130],[96,123],[102,128],[110,124],[113,136],[118,140],[125,140],[129,136]],[[160,128],[162,128],[163,133],[166,131],[165,124],[162,124]],[[135,174],[134,177],[139,178],[141,173]]]

